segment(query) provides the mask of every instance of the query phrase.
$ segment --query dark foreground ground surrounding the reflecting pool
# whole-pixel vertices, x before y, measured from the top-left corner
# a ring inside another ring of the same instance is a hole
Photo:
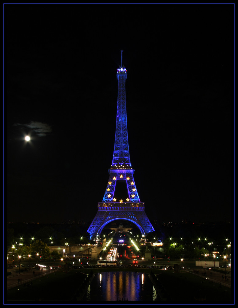
[[[87,290],[85,274],[98,271],[143,271],[147,274],[154,274],[159,281],[160,289],[167,295],[167,300],[158,304],[169,304],[170,302],[184,304],[232,304],[234,303],[233,287],[231,279],[225,283],[218,273],[206,273],[204,270],[197,270],[194,273],[180,270],[175,273],[173,270],[153,270],[149,268],[111,268],[111,269],[77,269],[62,271],[35,271],[24,274],[13,273],[7,278],[8,286],[16,287],[7,290],[5,288],[6,304],[83,304],[81,298]],[[153,275],[153,276],[154,276]],[[230,276],[230,275],[229,275]],[[18,284],[18,279],[20,279]],[[90,282],[87,282],[90,283]],[[233,283],[232,283],[233,284]],[[92,303],[92,302],[91,302]],[[113,302],[114,303],[114,302]],[[122,304],[123,302],[121,302]],[[130,304],[130,302],[125,302]],[[149,302],[149,304],[156,302]],[[90,302],[86,302],[90,304]],[[92,303],[93,304],[93,303]],[[98,302],[98,304],[103,304]],[[115,302],[114,304],[117,304]]]

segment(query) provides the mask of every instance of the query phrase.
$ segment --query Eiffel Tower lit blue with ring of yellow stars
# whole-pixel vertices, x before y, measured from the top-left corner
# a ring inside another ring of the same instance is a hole
[[[125,81],[127,71],[122,66],[121,51],[121,67],[117,69],[118,80],[118,96],[117,96],[117,120],[116,120],[116,136],[113,152],[113,160],[109,172],[109,180],[102,202],[98,203],[97,214],[93,222],[89,226],[88,233],[90,239],[100,237],[102,229],[109,222],[114,220],[127,220],[133,222],[142,235],[153,232],[148,217],[145,214],[145,205],[140,201],[136,184],[134,181],[134,169],[131,166],[127,120],[126,120],[126,99],[125,99]],[[124,195],[122,185],[124,183]],[[126,184],[126,185],[125,185]],[[117,186],[120,186],[119,191]]]

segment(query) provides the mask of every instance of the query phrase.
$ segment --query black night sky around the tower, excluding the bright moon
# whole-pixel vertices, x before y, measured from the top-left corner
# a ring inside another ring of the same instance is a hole
[[[150,221],[230,221],[232,4],[12,4],[4,22],[8,222],[93,220],[113,158],[121,50]]]

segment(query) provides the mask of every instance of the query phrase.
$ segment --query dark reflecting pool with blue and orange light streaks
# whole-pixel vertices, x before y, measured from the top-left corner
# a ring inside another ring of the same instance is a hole
[[[83,301],[158,301],[147,274],[103,272],[93,278]]]

